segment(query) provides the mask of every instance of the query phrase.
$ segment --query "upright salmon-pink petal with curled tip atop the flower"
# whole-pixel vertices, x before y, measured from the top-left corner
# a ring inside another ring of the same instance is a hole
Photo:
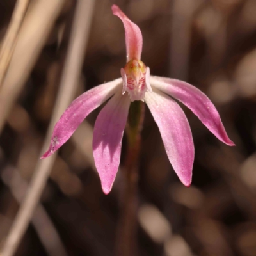
[[[142,51],[142,35],[140,28],[131,22],[115,4],[112,6],[112,12],[124,23],[127,62],[133,58],[140,60]]]

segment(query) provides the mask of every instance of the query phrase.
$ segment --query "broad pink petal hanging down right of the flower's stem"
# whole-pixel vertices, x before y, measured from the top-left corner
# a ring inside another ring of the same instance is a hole
[[[147,92],[145,101],[159,127],[173,169],[180,181],[189,186],[192,179],[194,144],[184,112],[175,100],[158,90]]]

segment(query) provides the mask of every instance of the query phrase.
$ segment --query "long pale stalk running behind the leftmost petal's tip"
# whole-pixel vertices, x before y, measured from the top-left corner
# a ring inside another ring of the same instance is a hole
[[[60,90],[42,151],[49,146],[52,128],[74,98],[77,85],[79,84],[84,52],[92,21],[94,2],[93,0],[77,1],[74,23],[72,24],[72,33],[68,45],[67,59],[61,76]],[[35,211],[35,207],[40,200],[56,156],[57,154],[54,154],[47,159],[38,160],[28,192],[6,238],[1,256],[12,256],[15,253],[20,239],[24,235],[29,221],[31,220],[31,216]]]

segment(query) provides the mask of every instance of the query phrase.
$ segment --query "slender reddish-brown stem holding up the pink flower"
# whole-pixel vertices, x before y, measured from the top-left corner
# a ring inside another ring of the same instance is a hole
[[[128,116],[128,148],[125,159],[125,187],[122,212],[116,239],[116,255],[136,255],[136,214],[138,193],[138,160],[141,148],[141,129],[145,104],[132,102]]]

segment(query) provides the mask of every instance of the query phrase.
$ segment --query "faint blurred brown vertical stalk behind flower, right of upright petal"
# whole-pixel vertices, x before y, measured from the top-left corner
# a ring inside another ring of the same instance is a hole
[[[189,47],[191,21],[197,0],[174,0],[170,42],[170,77],[187,80],[189,72]]]

